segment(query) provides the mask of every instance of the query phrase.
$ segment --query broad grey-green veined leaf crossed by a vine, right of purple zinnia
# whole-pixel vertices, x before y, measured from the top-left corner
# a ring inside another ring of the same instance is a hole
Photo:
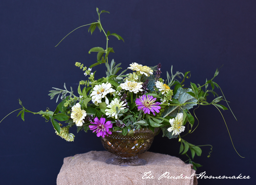
[[[190,94],[188,94],[187,92],[192,92],[192,90],[190,88],[183,89],[183,88],[179,88],[177,90],[177,93],[173,96],[174,99],[177,99],[181,104],[183,103],[196,103],[197,99],[194,98],[193,96],[191,96]],[[193,106],[195,106],[196,104],[186,104],[184,106],[182,106],[182,109],[191,109],[193,108]],[[173,116],[176,117],[177,113],[180,112],[182,113],[182,109],[179,110],[179,106],[169,106],[163,113],[162,116],[163,118],[165,118],[166,116]]]

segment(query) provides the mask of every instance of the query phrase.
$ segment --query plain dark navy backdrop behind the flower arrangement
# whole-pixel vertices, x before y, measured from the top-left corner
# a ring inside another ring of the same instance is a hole
[[[105,31],[121,35],[123,41],[109,37],[115,53],[109,59],[122,62],[123,69],[137,62],[147,66],[162,64],[162,77],[173,65],[173,72],[191,71],[185,81],[203,84],[221,68],[215,82],[230,101],[236,121],[229,110],[222,111],[234,146],[221,114],[214,106],[196,110],[199,126],[184,139],[202,147],[203,165],[197,171],[210,176],[250,175],[251,179],[202,179],[199,184],[252,184],[255,164],[255,1],[186,0],[186,1],[1,1],[0,2],[0,119],[20,108],[20,98],[28,110],[55,110],[56,98],[47,95],[52,87],[76,91],[78,82],[86,80],[75,62],[89,66],[96,62],[92,47],[105,48],[103,32],[98,28],[90,35],[88,27],[70,34],[73,29],[97,21],[96,7],[109,11],[101,15]],[[96,78],[105,75],[105,66]],[[131,71],[130,71],[131,72]],[[221,95],[220,90],[216,90]],[[77,94],[77,92],[76,92]],[[213,99],[212,95],[209,99]],[[225,105],[225,102],[223,102]],[[225,105],[226,106],[226,105]],[[0,184],[56,184],[63,158],[91,150],[104,150],[95,134],[76,133],[74,142],[56,136],[50,122],[40,115],[25,113],[25,122],[16,118],[18,111],[0,125]],[[197,122],[195,122],[196,125]],[[159,134],[152,152],[179,155],[180,143]],[[190,152],[188,152],[190,153]],[[107,169],[106,169],[107,170]]]

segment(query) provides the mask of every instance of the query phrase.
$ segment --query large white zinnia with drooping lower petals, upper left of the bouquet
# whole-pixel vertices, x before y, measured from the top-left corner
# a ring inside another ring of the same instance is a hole
[[[109,105],[109,99],[106,97],[106,95],[108,93],[112,94],[115,92],[115,90],[111,88],[111,84],[109,82],[96,85],[93,90],[94,91],[92,91],[90,95],[92,98],[91,101],[97,106],[99,103],[101,103],[101,98],[105,98],[106,104]]]

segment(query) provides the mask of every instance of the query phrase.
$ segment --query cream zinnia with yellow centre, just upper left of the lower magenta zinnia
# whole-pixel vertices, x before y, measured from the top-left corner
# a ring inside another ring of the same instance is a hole
[[[86,117],[86,111],[81,109],[81,105],[79,103],[75,104],[71,111],[71,118],[76,126],[83,126],[84,118]]]

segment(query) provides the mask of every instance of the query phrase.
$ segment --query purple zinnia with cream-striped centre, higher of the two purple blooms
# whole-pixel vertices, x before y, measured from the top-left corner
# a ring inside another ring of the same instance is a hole
[[[155,114],[155,111],[157,113],[159,113],[159,109],[161,109],[160,105],[161,103],[160,102],[155,102],[156,101],[156,98],[154,98],[153,96],[151,95],[142,95],[140,96],[140,98],[137,98],[136,99],[136,105],[138,106],[138,110],[143,110],[144,113],[148,113],[150,114],[150,111],[154,114]]]

